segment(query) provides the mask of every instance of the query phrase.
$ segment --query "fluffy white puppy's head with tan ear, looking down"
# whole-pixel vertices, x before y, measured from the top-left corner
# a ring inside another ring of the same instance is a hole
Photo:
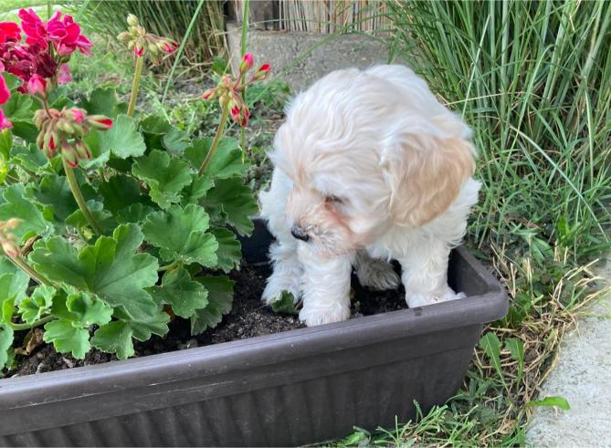
[[[291,232],[329,256],[434,220],[474,169],[469,128],[402,66],[321,78],[290,104],[274,145],[293,182]]]

